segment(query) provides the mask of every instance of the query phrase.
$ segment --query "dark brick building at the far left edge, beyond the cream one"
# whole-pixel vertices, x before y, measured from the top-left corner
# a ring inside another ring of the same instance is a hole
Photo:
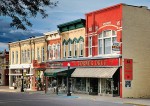
[[[0,52],[0,85],[9,84],[9,52],[4,50]]]

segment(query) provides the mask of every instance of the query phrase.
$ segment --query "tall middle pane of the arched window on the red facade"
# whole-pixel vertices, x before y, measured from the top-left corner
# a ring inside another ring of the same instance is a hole
[[[104,54],[111,53],[111,38],[104,39]]]

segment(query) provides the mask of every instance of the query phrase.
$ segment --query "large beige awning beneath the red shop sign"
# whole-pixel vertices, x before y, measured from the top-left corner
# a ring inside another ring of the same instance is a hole
[[[71,77],[112,78],[117,68],[76,68]]]

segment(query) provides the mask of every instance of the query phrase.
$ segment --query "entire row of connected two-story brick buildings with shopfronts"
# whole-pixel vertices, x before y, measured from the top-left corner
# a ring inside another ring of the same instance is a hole
[[[74,93],[150,97],[149,9],[117,4],[85,17],[42,37],[9,43],[9,86],[26,70],[30,89],[44,83],[44,72],[46,81],[64,88],[69,77]]]

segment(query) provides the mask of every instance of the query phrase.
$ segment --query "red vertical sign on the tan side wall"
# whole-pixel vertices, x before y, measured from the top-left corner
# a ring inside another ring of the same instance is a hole
[[[132,80],[133,79],[133,60],[124,59],[124,79]]]

